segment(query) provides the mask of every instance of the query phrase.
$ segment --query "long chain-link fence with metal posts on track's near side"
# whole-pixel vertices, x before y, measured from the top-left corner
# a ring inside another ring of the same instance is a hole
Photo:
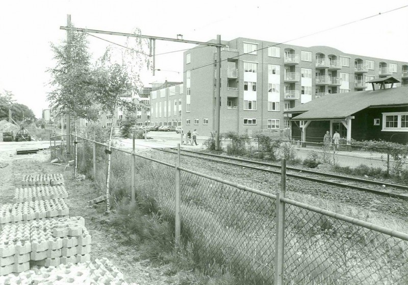
[[[107,146],[77,141],[79,171],[106,189]],[[134,187],[139,201],[174,223],[176,245],[192,244],[205,274],[221,269],[243,284],[408,283],[406,234],[284,198],[279,190],[273,195],[111,150],[111,201],[131,196]]]

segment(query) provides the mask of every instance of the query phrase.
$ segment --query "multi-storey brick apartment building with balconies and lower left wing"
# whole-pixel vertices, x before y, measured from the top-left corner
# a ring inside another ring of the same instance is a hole
[[[284,111],[327,94],[371,90],[366,82],[378,77],[392,75],[401,82],[394,87],[408,86],[408,62],[345,54],[328,46],[246,38],[222,44],[226,47],[221,49],[221,133],[251,135],[289,128]],[[215,47],[185,51],[184,85],[152,92],[152,122],[181,124],[210,135],[215,129],[215,60]]]

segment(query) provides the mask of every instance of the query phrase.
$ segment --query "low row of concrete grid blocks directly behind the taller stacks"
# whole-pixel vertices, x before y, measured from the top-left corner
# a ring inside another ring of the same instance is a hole
[[[62,198],[4,204],[0,207],[0,229],[9,223],[67,215],[69,215],[69,209]]]

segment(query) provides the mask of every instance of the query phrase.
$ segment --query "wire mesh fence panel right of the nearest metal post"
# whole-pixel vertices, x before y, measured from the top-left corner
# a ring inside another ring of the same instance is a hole
[[[408,284],[408,242],[286,204],[286,284]]]

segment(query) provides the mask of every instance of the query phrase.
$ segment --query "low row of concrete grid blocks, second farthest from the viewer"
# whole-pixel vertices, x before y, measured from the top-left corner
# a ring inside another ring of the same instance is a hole
[[[68,198],[68,193],[63,185],[17,188],[14,192],[13,203],[52,200],[58,198]]]

